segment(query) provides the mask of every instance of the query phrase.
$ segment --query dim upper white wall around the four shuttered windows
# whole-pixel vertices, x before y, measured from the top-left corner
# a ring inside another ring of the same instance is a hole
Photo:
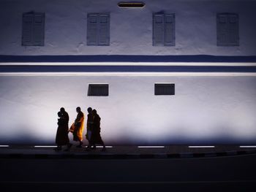
[[[0,55],[255,55],[254,0],[145,0],[121,9],[117,0],[0,0]],[[45,12],[45,46],[21,46],[23,12]],[[152,46],[152,13],[176,14],[176,46]],[[110,46],[86,45],[88,12],[110,13]],[[218,12],[239,14],[240,46],[217,47]]]

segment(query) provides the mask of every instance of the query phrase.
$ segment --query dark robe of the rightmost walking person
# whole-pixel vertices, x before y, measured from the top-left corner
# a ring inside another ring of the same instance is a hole
[[[102,137],[100,137],[100,118],[99,115],[94,115],[91,128],[91,144],[102,144]]]

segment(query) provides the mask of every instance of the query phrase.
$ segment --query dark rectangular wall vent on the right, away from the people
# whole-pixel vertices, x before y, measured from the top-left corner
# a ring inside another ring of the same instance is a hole
[[[155,96],[175,95],[175,84],[174,83],[155,83],[154,95]]]

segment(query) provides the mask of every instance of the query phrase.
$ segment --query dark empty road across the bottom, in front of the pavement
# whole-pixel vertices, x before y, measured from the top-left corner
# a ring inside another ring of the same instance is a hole
[[[110,152],[42,151],[31,156],[1,150],[0,191],[256,191],[255,153],[112,158]],[[111,158],[97,158],[102,155]]]

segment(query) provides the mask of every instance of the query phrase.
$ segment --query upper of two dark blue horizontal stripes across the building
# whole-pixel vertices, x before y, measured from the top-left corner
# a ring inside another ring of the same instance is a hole
[[[256,62],[256,55],[0,55],[4,62]]]

